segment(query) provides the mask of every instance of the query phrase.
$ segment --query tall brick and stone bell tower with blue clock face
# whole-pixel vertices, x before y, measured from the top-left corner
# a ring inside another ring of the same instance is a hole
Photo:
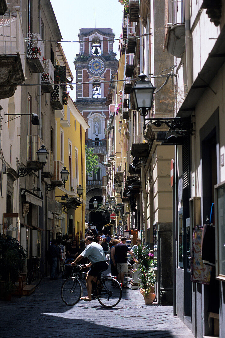
[[[93,201],[102,202],[102,176],[105,176],[106,155],[105,128],[108,107],[105,105],[111,75],[117,72],[118,60],[113,52],[114,34],[111,28],[82,28],[78,35],[80,53],[74,61],[76,69],[76,106],[90,128],[85,134],[88,148],[98,155],[97,174],[86,176],[86,222],[102,231],[105,216],[94,210]]]

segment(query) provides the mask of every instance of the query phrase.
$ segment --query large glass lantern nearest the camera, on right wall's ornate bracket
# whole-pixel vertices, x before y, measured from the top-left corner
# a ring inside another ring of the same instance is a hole
[[[148,115],[148,112],[152,107],[155,87],[153,87],[151,81],[145,80],[147,75],[141,73],[138,77],[140,78],[140,80],[136,81],[134,87],[131,89],[131,93],[133,93],[133,99],[136,110],[139,110],[141,116],[143,116],[144,118],[144,129],[145,129],[146,128],[145,116]]]

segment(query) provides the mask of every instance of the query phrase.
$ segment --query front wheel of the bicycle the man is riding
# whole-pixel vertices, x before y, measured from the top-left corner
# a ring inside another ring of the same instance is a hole
[[[61,298],[66,305],[77,304],[81,297],[82,286],[80,281],[74,277],[68,278],[61,287]]]

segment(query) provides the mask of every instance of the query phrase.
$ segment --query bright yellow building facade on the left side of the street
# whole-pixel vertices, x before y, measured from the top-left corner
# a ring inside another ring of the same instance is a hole
[[[69,171],[68,180],[61,187],[55,189],[55,199],[61,208],[59,223],[62,235],[68,234],[70,239],[82,239],[85,230],[85,131],[89,125],[69,97],[67,105],[58,112],[55,119],[56,130],[56,158],[54,181],[61,180],[60,171],[64,166]],[[77,186],[83,188],[78,196]]]

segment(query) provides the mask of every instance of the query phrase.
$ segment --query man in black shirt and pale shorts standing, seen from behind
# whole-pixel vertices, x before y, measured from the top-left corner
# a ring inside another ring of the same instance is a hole
[[[126,237],[121,238],[121,243],[115,246],[115,255],[118,271],[118,281],[122,284],[122,287],[124,289],[129,289],[126,285],[124,285],[124,274],[128,272],[127,252],[130,254],[130,250],[126,246],[126,241]]]

